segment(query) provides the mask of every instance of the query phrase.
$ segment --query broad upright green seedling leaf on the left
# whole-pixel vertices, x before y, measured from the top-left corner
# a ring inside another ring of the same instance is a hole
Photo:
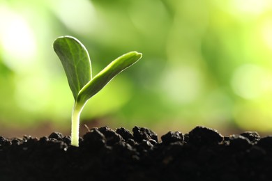
[[[71,36],[61,36],[54,41],[54,51],[63,65],[74,99],[91,80],[91,59],[82,43]]]

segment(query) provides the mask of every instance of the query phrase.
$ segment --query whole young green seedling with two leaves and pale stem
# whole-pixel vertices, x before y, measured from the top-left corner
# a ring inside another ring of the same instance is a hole
[[[92,77],[91,59],[84,45],[72,36],[61,36],[54,41],[54,51],[63,65],[75,100],[72,112],[71,144],[78,146],[80,113],[86,102],[96,95],[116,74],[136,63],[142,54],[128,52],[109,63]]]

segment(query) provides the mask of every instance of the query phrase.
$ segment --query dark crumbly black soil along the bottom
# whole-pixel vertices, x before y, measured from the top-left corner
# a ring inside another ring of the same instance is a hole
[[[0,180],[272,180],[272,136],[222,136],[195,127],[158,136],[144,127],[93,128],[70,145],[53,132],[40,139],[0,136]]]

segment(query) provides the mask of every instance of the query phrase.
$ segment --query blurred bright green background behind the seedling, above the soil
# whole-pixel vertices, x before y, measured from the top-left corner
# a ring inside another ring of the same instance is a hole
[[[89,127],[272,131],[270,0],[1,0],[0,135],[70,132],[73,95],[52,48],[75,36],[93,74],[143,58],[89,100]]]

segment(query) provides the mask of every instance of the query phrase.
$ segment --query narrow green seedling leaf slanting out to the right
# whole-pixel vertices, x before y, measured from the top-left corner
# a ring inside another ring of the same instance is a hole
[[[138,52],[128,52],[127,54],[123,54],[119,58],[116,58],[82,88],[77,97],[77,102],[79,104],[84,104],[93,95],[96,95],[96,93],[98,93],[98,91],[100,91],[105,85],[107,85],[107,83],[109,83],[116,74],[119,74],[126,68],[130,67],[140,58],[142,58],[142,54]]]

